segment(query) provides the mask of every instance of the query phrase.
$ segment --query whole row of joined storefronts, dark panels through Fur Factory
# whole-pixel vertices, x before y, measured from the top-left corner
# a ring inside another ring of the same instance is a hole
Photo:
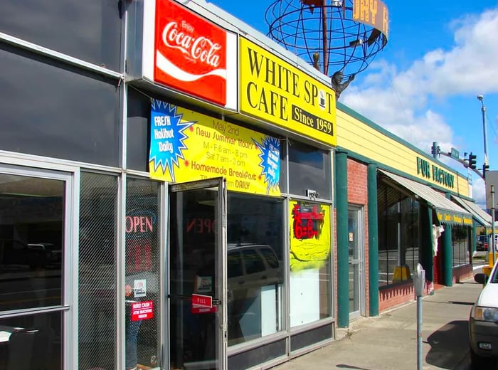
[[[0,12],[0,369],[268,368],[470,271],[467,180],[216,6]]]

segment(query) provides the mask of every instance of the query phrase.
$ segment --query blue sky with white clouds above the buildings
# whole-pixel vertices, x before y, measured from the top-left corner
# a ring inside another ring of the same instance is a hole
[[[293,0],[298,2],[299,0]],[[487,109],[489,169],[498,169],[498,2],[383,0],[389,40],[356,76],[340,101],[430,153],[454,147],[484,163],[481,102]],[[211,0],[212,4],[267,33],[265,10],[273,0]],[[441,161],[462,174],[462,164]],[[485,204],[484,181],[472,172],[473,195]]]

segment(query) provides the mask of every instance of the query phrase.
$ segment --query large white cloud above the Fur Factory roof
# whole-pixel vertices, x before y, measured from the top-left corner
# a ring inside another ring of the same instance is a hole
[[[345,90],[341,102],[426,152],[436,139],[446,152],[458,147],[452,128],[428,101],[498,92],[498,8],[457,19],[450,29],[451,46],[425,53],[406,70],[385,60],[372,63],[371,73]],[[484,204],[484,181],[477,179],[473,188],[474,199]]]

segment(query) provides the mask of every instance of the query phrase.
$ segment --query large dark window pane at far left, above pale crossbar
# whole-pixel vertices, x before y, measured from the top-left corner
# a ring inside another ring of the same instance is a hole
[[[0,174],[0,310],[61,305],[64,181]]]

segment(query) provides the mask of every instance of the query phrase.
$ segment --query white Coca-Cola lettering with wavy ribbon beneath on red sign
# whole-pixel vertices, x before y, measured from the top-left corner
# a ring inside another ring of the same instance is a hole
[[[186,72],[181,65],[175,65],[171,60],[164,56],[161,51],[157,50],[156,65],[164,73],[171,75],[177,80],[191,82],[208,75],[217,75],[226,79],[226,68],[218,68],[220,64],[221,45],[214,43],[205,36],[192,36],[179,29],[178,23],[171,21],[164,27],[161,33],[161,41],[168,48],[178,49],[186,58],[194,62],[204,63],[215,68],[208,73],[195,75]]]

